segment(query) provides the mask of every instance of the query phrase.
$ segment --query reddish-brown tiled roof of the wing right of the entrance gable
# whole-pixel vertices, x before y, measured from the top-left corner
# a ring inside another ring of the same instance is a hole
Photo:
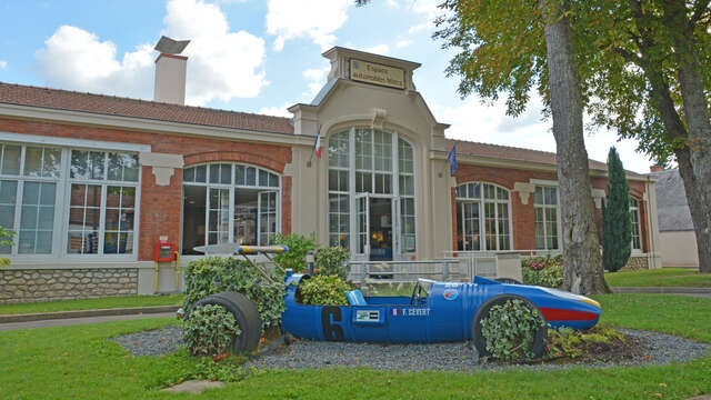
[[[470,142],[464,140],[453,140],[448,139],[450,144],[457,146],[457,153],[467,154],[467,156],[477,156],[477,157],[487,157],[487,158],[498,158],[505,160],[515,160],[515,161],[525,161],[525,162],[537,162],[544,164],[553,164],[558,163],[555,153],[548,151],[539,151],[531,149],[522,149],[509,146],[500,146],[500,144],[489,144],[489,143],[479,143],[479,142]],[[607,171],[608,166],[604,162],[590,160],[590,169]],[[638,176],[639,173],[627,171],[628,174]]]

